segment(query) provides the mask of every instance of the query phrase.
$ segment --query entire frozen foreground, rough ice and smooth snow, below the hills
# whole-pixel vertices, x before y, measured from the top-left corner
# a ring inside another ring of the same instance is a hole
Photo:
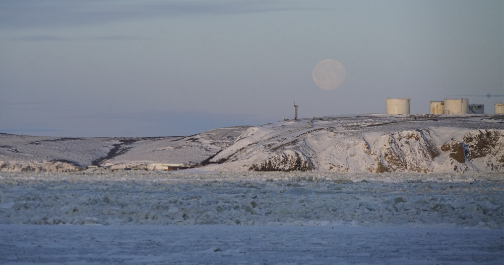
[[[504,178],[1,172],[0,224],[0,263],[500,264]]]

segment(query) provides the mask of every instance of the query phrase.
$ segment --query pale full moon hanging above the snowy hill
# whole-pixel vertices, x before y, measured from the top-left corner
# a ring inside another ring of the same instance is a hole
[[[324,90],[340,87],[346,79],[346,69],[337,60],[327,59],[319,62],[311,73],[313,81]]]

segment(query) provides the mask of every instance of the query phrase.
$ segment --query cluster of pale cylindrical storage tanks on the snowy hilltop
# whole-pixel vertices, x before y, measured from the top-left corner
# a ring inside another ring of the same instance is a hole
[[[410,99],[385,100],[386,114],[410,114]],[[445,99],[431,101],[429,114],[484,114],[483,104],[469,105],[468,99]],[[504,114],[504,103],[495,103],[495,114]]]

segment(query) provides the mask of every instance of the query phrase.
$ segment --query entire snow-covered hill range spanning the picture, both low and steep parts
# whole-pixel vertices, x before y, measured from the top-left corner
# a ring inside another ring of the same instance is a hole
[[[204,170],[504,172],[504,116],[367,115],[229,127],[186,137],[0,134],[0,171],[205,165]],[[198,169],[198,170],[201,170]]]

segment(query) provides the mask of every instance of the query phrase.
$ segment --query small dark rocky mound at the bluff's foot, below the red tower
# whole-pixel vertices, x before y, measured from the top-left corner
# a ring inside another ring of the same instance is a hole
[[[251,165],[251,171],[312,171],[313,163],[300,151],[285,150]]]

